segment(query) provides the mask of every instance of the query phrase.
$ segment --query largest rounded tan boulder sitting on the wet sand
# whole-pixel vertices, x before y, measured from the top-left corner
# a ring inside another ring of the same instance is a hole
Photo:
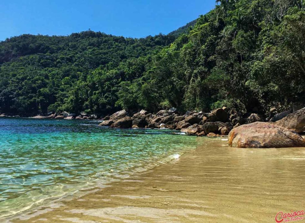
[[[305,147],[297,133],[269,122],[253,122],[231,130],[229,146],[239,148]]]

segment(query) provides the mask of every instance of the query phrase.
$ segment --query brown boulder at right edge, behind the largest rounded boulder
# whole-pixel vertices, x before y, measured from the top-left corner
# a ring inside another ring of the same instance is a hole
[[[283,126],[289,130],[301,133],[305,131],[305,108],[293,112],[281,120],[274,122],[279,126]]]

